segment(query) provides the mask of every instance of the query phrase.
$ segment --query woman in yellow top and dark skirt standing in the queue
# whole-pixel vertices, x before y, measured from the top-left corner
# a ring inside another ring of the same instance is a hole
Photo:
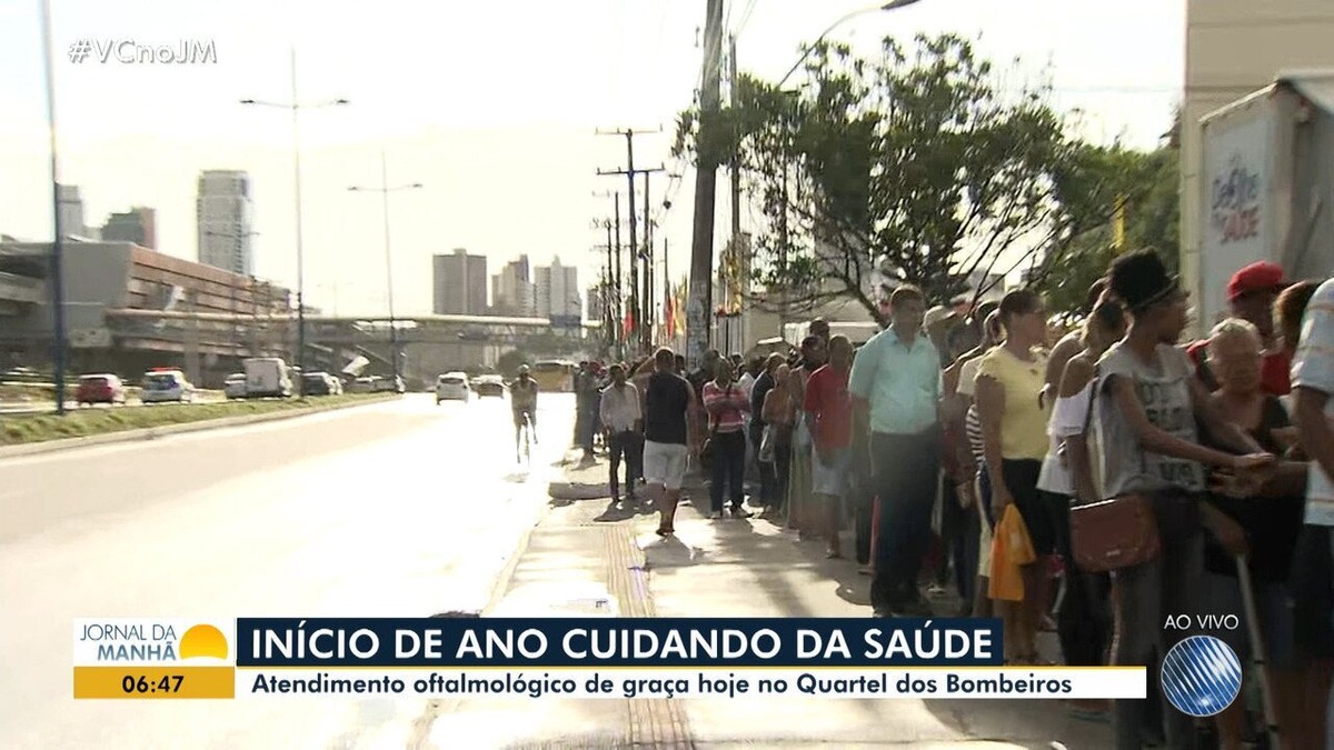
[[[1038,350],[1047,338],[1042,298],[1030,290],[1005,295],[1000,324],[1005,343],[987,352],[978,367],[978,416],[991,475],[992,518],[999,523],[1006,506],[1014,503],[1037,554],[1037,562],[1023,567],[1023,602],[1005,602],[1000,607],[1007,661],[1033,665],[1038,658],[1038,622],[1047,601],[1043,563],[1055,550],[1053,511],[1038,491],[1050,412],[1042,394],[1047,362]]]

